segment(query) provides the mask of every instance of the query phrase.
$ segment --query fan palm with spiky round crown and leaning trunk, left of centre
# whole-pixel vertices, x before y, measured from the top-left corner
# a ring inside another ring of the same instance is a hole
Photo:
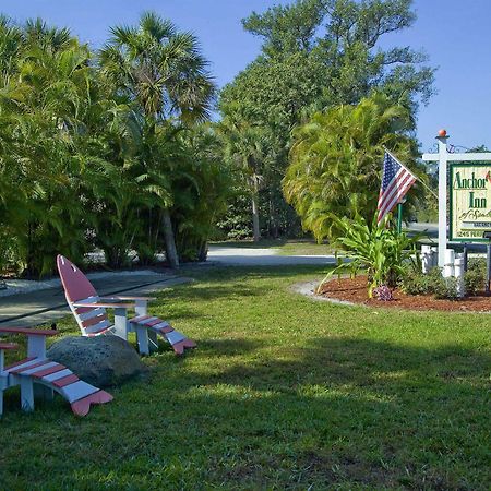
[[[108,83],[125,94],[142,111],[145,131],[169,120],[203,121],[209,116],[214,84],[196,38],[147,12],[137,27],[111,28],[112,38],[99,55]],[[164,201],[163,227],[166,253],[179,266],[170,218],[171,200]]]

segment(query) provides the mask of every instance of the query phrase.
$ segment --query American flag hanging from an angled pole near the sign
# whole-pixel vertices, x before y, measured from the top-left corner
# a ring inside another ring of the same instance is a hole
[[[384,219],[387,213],[392,212],[397,203],[403,201],[403,197],[415,182],[416,177],[397,158],[385,152],[382,185],[379,194],[379,204],[376,205],[379,211],[378,224]]]

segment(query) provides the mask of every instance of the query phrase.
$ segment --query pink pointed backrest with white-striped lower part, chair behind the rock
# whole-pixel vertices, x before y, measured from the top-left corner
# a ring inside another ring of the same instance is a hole
[[[100,307],[73,307],[74,302],[98,302],[99,296],[87,277],[67,258],[57,256],[57,266],[70,310],[84,336],[97,336],[111,326],[106,309]]]

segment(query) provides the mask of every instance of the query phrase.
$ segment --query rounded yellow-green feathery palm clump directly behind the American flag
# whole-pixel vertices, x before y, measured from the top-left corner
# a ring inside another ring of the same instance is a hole
[[[376,207],[385,148],[424,179],[416,164],[416,144],[405,135],[410,127],[407,108],[376,94],[357,106],[318,112],[297,128],[283,184],[303,228],[321,241],[335,238],[338,221],[333,217],[362,216],[370,220]],[[416,195],[422,192],[414,187],[406,213],[411,213],[415,189]]]

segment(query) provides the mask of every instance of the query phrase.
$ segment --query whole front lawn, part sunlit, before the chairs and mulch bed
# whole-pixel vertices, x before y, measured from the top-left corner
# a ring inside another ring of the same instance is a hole
[[[5,394],[1,489],[488,489],[491,316],[291,292],[314,267],[195,276],[152,312],[199,349],[148,383],[82,419]]]

